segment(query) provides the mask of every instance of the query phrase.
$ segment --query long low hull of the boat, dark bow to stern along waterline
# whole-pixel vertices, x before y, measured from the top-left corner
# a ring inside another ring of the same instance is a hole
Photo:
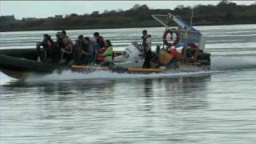
[[[196,66],[201,70],[209,70],[210,66],[200,66],[200,64],[181,64],[181,68]],[[177,68],[179,69],[179,68]],[[27,78],[31,74],[45,75],[57,71],[61,74],[63,70],[72,70],[74,72],[91,73],[97,70],[105,70],[114,73],[128,74],[150,74],[166,73],[165,67],[160,68],[141,68],[141,67],[106,67],[106,66],[66,66],[53,63],[37,61],[35,50],[0,50],[0,71],[12,78]]]

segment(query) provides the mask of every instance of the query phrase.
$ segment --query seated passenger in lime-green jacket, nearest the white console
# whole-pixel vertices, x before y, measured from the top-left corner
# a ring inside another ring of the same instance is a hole
[[[113,47],[110,40],[106,40],[105,42],[106,50],[102,54],[103,62],[101,63],[102,66],[110,66],[113,64]]]

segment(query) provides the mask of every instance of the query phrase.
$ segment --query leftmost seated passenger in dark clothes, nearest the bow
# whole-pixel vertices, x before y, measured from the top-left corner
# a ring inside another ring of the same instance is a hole
[[[42,46],[42,49],[40,48]],[[37,51],[38,51],[38,61],[46,61],[51,58],[51,48],[54,46],[54,41],[50,38],[50,35],[43,34],[42,42],[38,43]]]

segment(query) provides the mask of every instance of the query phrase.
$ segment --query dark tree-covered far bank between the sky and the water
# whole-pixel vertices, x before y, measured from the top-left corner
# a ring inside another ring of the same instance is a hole
[[[177,6],[174,10],[153,9],[138,4],[130,10],[105,10],[102,14],[94,11],[91,14],[70,14],[65,18],[26,18],[16,20],[11,16],[0,17],[0,31],[16,30],[78,30],[100,28],[129,28],[161,26],[154,21],[151,14],[177,14],[186,20],[191,17],[190,6]],[[194,7],[193,25],[222,24],[252,24],[256,23],[256,4],[250,6],[236,5],[233,2],[222,1],[217,6],[198,5]]]

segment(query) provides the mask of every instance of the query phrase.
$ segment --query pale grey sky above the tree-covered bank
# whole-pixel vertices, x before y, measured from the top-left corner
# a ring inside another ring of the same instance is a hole
[[[0,1],[0,15],[14,14],[15,18],[47,18],[55,14],[90,14],[94,10],[128,10],[134,4],[146,4],[154,9],[171,9],[178,5],[216,5],[219,1]],[[231,1],[250,5],[255,1]]]

